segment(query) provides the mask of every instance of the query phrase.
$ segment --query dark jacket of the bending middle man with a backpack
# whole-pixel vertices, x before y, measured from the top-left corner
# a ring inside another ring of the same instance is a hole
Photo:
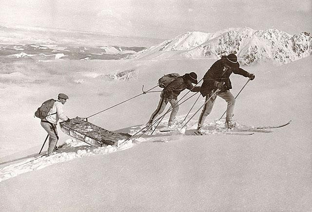
[[[163,89],[163,94],[161,97],[166,99],[176,99],[176,97],[185,89],[192,89],[192,92],[198,92],[200,87],[194,87],[191,81],[186,79],[185,75],[179,76]]]

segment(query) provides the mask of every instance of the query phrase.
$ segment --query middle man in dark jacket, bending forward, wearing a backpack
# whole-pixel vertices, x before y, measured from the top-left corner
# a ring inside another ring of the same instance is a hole
[[[157,115],[161,114],[168,102],[172,106],[172,111],[170,114],[168,126],[172,126],[174,124],[174,120],[176,118],[176,113],[179,109],[179,105],[177,103],[177,96],[185,89],[189,89],[192,92],[198,92],[200,87],[194,87],[193,84],[197,84],[197,74],[195,72],[186,73],[183,76],[177,77],[174,81],[172,81],[166,88],[164,88],[160,94],[160,100],[156,110],[153,112],[150,120],[146,125],[151,125]]]

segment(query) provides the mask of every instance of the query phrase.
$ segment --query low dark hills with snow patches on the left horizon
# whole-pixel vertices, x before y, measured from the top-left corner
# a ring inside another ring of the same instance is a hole
[[[146,49],[145,47],[63,47],[58,45],[1,45],[0,61],[46,61],[46,60],[107,60],[121,59]]]

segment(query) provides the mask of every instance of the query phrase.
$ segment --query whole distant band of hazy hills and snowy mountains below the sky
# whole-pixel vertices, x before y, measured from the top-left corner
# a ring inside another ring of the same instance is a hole
[[[155,45],[158,43],[157,45]],[[110,45],[109,45],[110,44]],[[137,47],[131,44],[146,44]],[[149,48],[146,48],[150,45]],[[144,47],[145,46],[145,47]],[[0,62],[55,59],[214,58],[234,53],[242,65],[286,64],[312,54],[312,35],[277,29],[229,28],[216,33],[186,32],[169,40],[0,25]]]

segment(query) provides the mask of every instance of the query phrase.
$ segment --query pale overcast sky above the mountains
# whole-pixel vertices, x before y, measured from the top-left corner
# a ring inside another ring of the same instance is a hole
[[[229,27],[312,31],[312,0],[0,0],[0,25],[172,38]]]

